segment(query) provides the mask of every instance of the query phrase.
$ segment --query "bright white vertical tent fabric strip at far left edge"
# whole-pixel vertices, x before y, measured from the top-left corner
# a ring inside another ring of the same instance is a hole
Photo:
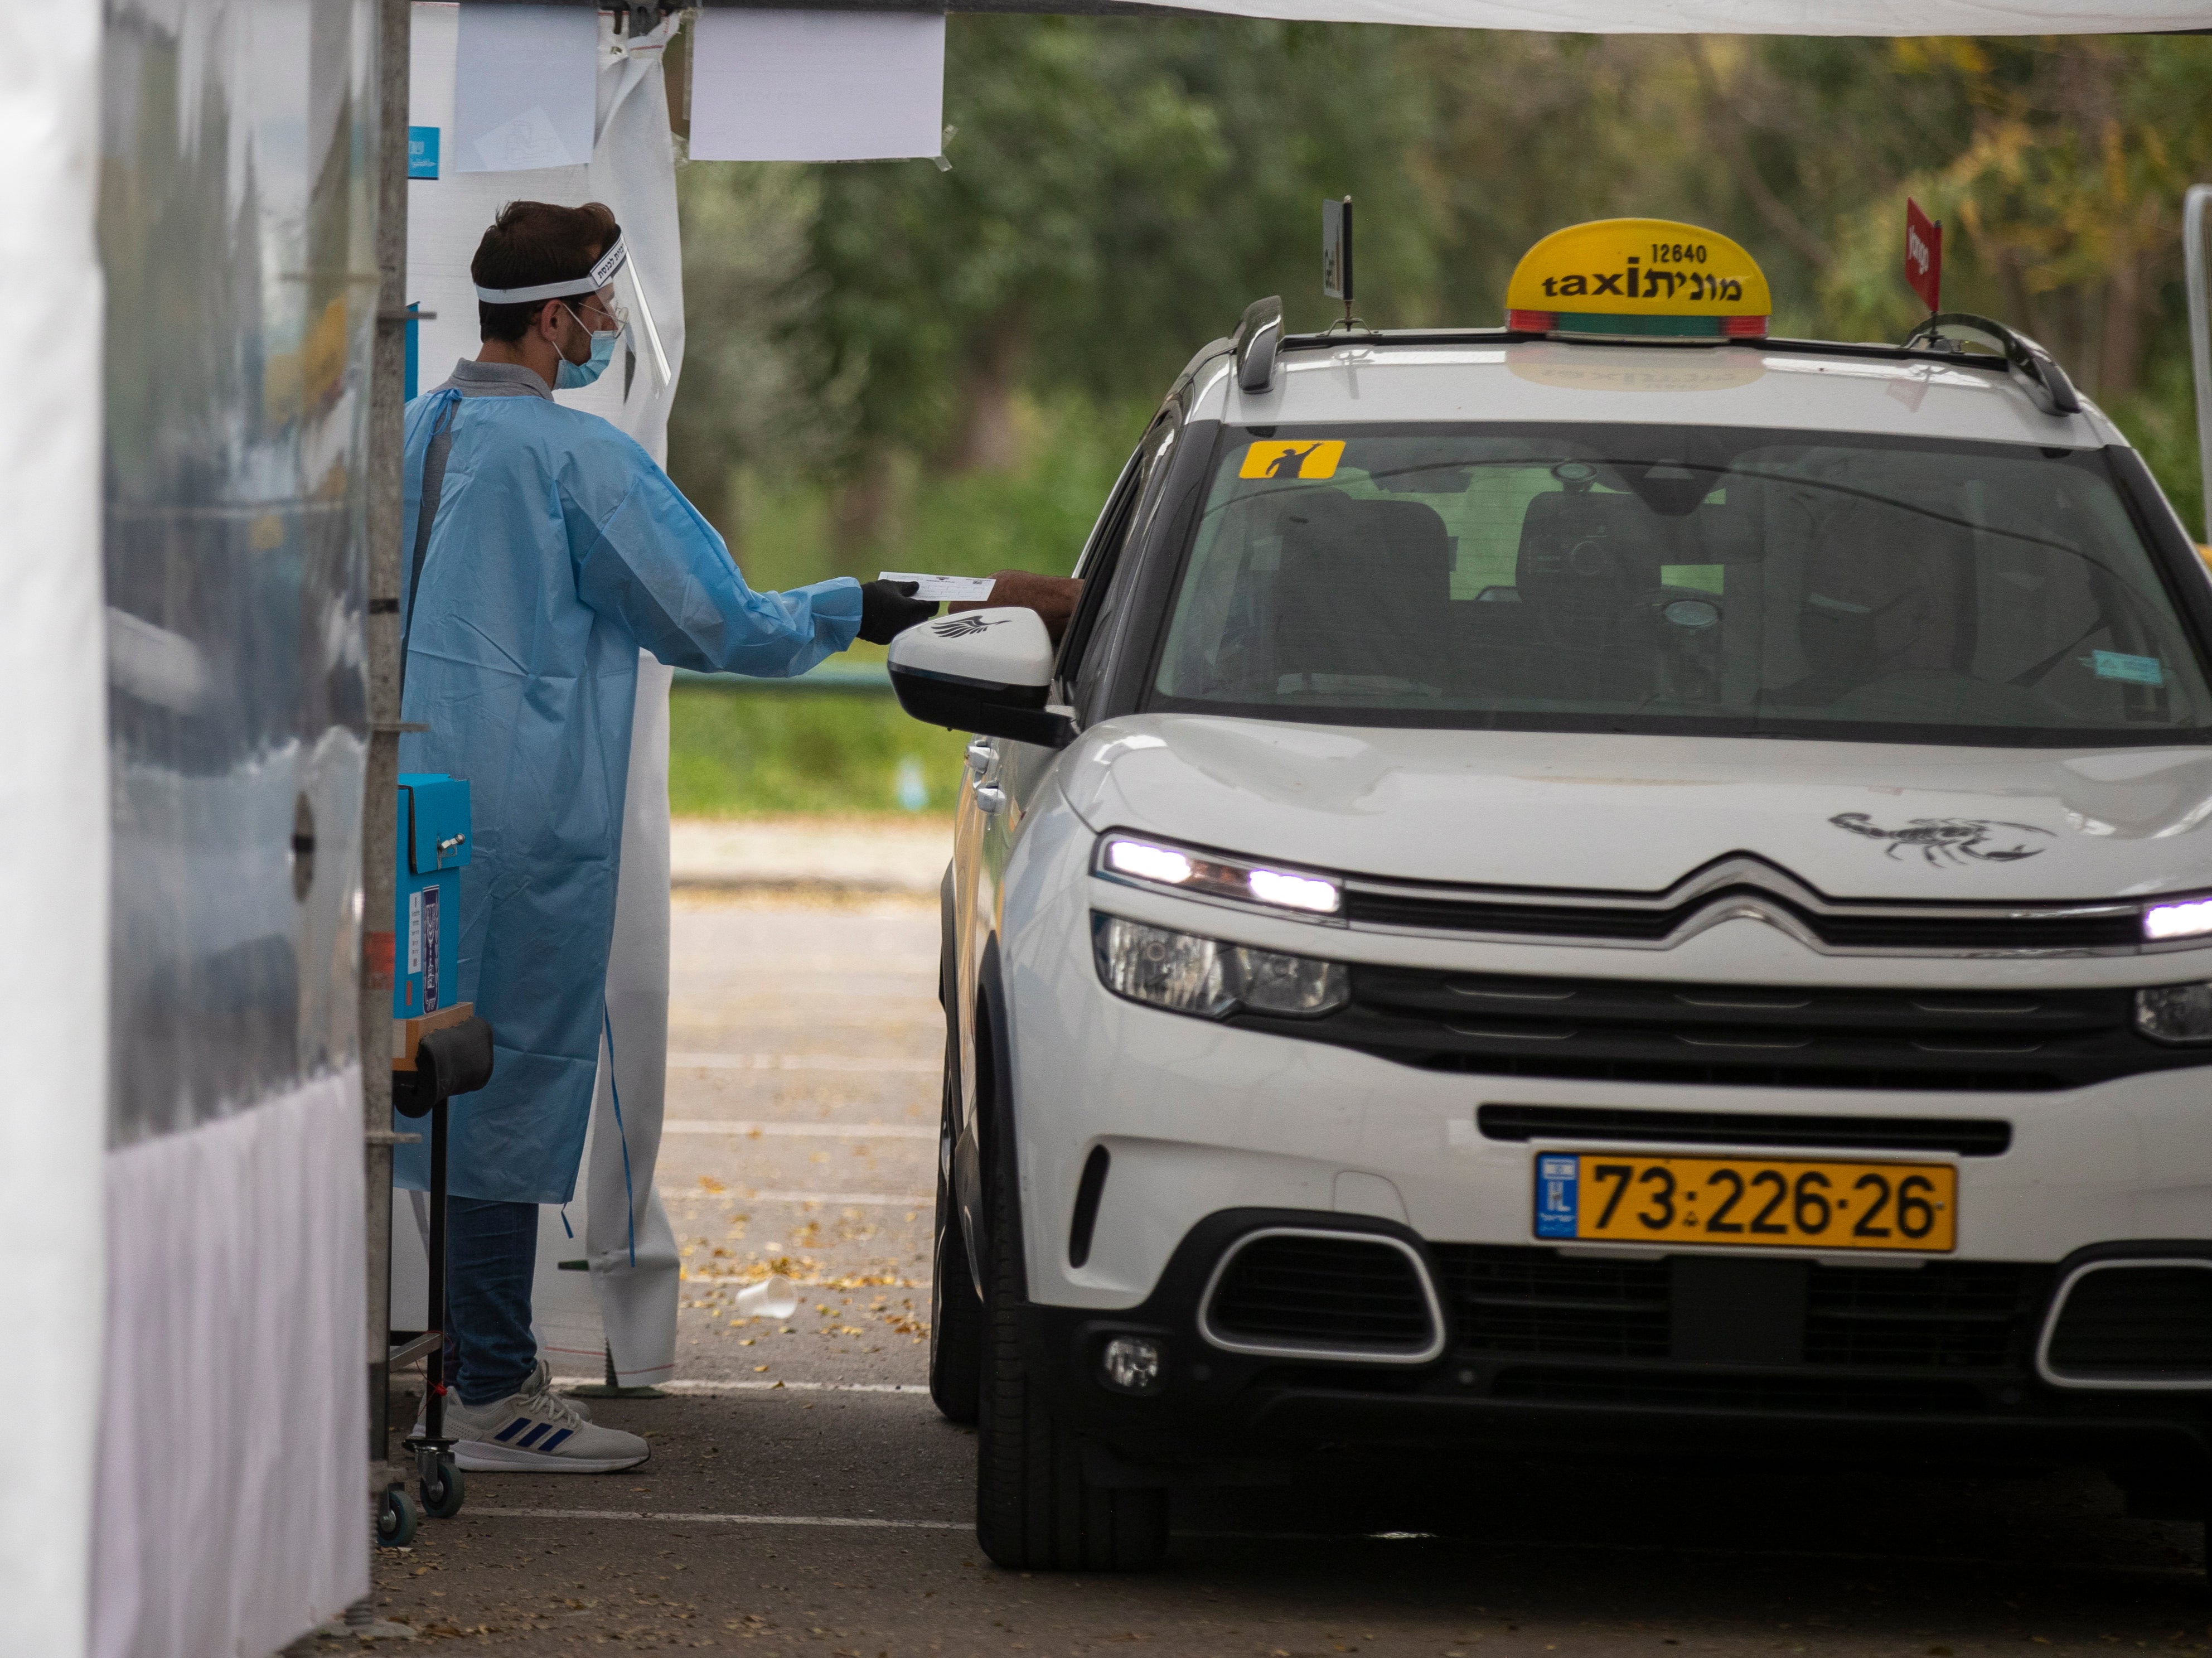
[[[0,1651],[84,1649],[100,1406],[108,1122],[108,779],[100,578],[102,283],[93,246],[100,7],[62,7],[0,64],[0,257],[15,286],[0,396],[0,662],[31,697],[0,766]]]

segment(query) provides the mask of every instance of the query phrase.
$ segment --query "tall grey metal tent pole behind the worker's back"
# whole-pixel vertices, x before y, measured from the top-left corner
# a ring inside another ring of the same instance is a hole
[[[369,370],[369,775],[361,797],[361,1116],[367,1142],[369,1481],[387,1457],[392,1344],[392,868],[400,775],[400,414],[407,376],[407,73],[411,0],[376,35],[376,356]]]

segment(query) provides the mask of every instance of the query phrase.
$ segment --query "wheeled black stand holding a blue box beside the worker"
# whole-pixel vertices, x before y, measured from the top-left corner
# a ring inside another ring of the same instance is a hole
[[[389,1364],[420,1357],[425,1368],[422,1432],[409,1434],[420,1512],[451,1519],[465,1483],[445,1432],[445,1175],[447,1118],[456,1094],[491,1080],[491,1025],[469,1003],[438,1005],[440,981],[453,983],[460,947],[460,866],[469,861],[469,784],[458,777],[400,777],[400,857],[394,936],[405,941],[405,972],[392,974],[392,1111],[429,1118],[429,1304],[425,1330],[389,1350]],[[398,954],[398,950],[394,950]],[[389,1485],[376,1514],[378,1543],[400,1547],[414,1536],[416,1503]]]

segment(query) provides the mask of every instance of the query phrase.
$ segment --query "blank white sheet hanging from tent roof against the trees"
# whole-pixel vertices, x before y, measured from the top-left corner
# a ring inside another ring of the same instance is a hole
[[[885,162],[945,135],[945,15],[701,9],[697,162]]]

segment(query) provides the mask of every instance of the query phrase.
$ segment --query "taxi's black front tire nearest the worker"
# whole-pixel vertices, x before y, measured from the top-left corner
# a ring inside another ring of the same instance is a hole
[[[984,1302],[982,1415],[975,1437],[975,1541],[1020,1572],[1135,1572],[1168,1552],[1168,1492],[1093,1485],[1082,1441],[1029,1386],[1022,1366],[1020,1244],[1009,1184],[993,1171]]]

